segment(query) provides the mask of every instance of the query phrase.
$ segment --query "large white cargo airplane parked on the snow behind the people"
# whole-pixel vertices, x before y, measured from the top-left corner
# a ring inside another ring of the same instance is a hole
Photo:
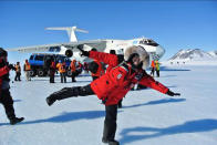
[[[131,45],[141,45],[149,54],[151,60],[159,60],[164,53],[165,49],[156,43],[152,39],[147,38],[137,38],[132,40],[87,40],[87,41],[78,41],[75,32],[89,33],[89,31],[78,29],[76,27],[63,27],[63,28],[45,28],[45,30],[61,30],[66,31],[70,42],[68,43],[55,43],[55,44],[43,44],[43,45],[33,45],[33,46],[21,46],[16,49],[7,49],[8,51],[18,51],[18,52],[58,52],[60,54],[65,54],[68,58],[75,58],[76,60],[84,62],[90,61],[90,59],[80,55],[80,51],[76,49],[79,44],[84,44],[84,50],[89,51],[92,48],[96,48],[101,52],[110,52],[110,50],[115,50],[117,54],[123,54],[125,49]]]

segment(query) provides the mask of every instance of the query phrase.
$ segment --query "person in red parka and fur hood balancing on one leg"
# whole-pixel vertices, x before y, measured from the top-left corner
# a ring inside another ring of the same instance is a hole
[[[92,55],[94,52],[83,51],[82,53],[85,53],[84,55]],[[172,92],[146,73],[145,69],[148,66],[149,55],[145,49],[135,45],[130,46],[125,51],[124,60],[125,61],[120,65],[113,68],[89,85],[63,87],[62,90],[52,93],[46,97],[48,105],[52,105],[55,101],[68,97],[95,94],[105,104],[105,121],[102,142],[108,143],[110,145],[118,145],[120,143],[115,141],[117,103],[136,83],[170,96],[180,95],[179,93]]]

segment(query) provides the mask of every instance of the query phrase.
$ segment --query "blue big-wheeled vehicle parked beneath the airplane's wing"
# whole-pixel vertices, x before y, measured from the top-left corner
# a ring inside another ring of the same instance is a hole
[[[46,76],[49,74],[49,68],[51,61],[54,60],[55,64],[58,62],[65,62],[69,70],[71,60],[62,54],[50,54],[50,53],[33,53],[30,55],[29,63],[31,65],[31,76]]]

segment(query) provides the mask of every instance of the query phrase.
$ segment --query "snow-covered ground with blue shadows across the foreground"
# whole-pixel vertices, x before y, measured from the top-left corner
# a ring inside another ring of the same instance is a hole
[[[11,72],[13,73],[13,72]],[[180,96],[154,90],[131,91],[118,110],[116,139],[121,145],[216,145],[217,66],[163,66],[159,82]],[[17,116],[10,125],[0,105],[0,145],[101,145],[104,106],[96,96],[68,99],[48,106],[45,97],[76,83],[50,84],[48,77],[11,83]]]

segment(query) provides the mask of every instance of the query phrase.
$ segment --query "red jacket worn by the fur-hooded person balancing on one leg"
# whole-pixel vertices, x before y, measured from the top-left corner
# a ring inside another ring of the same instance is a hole
[[[144,70],[134,71],[127,63],[106,72],[105,75],[93,81],[91,87],[100,100],[106,100],[105,105],[113,105],[117,104],[136,83],[162,93],[168,91],[166,86],[156,82]]]

